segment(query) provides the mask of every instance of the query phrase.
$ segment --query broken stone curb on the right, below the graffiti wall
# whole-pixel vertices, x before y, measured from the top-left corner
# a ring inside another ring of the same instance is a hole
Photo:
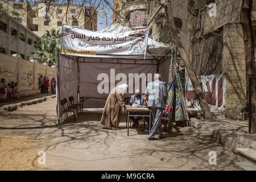
[[[236,154],[236,148],[252,148],[256,150],[255,134],[235,134],[232,128],[225,127],[221,122],[205,122],[196,118],[191,118],[191,126],[197,130],[206,130],[212,133],[214,139]],[[193,130],[190,131],[193,134]]]

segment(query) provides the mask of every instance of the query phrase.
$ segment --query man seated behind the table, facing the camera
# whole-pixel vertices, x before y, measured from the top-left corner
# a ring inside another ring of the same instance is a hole
[[[141,107],[143,106],[143,96],[141,95],[141,91],[139,89],[135,90],[135,95],[131,96],[130,104],[133,107]],[[131,115],[136,115],[137,113],[130,113]],[[133,127],[137,128],[139,126],[139,120],[143,119],[143,117],[130,117],[131,121],[133,121]]]

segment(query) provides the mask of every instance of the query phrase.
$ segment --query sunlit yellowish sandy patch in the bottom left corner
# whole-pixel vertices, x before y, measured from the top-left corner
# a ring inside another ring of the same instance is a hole
[[[34,142],[30,137],[0,136],[0,170],[36,170]]]

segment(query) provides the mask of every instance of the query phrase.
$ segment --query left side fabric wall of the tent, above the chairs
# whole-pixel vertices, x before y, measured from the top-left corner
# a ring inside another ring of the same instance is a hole
[[[73,96],[75,103],[77,102],[78,89],[78,67],[75,60],[60,55],[60,100]]]

